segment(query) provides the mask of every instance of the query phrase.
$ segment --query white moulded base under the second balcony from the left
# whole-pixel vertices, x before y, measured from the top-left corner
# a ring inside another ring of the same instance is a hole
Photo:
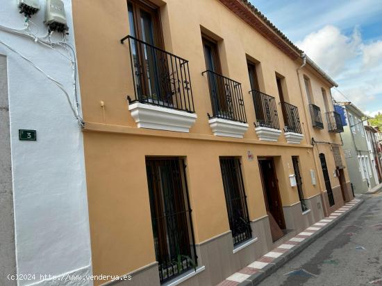
[[[222,118],[211,118],[208,120],[215,136],[243,138],[247,131],[248,123],[226,120]]]

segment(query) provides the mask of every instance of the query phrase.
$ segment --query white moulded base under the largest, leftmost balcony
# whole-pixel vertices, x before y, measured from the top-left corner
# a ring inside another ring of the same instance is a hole
[[[128,105],[128,110],[138,128],[190,132],[190,127],[197,120],[197,114],[141,102]]]

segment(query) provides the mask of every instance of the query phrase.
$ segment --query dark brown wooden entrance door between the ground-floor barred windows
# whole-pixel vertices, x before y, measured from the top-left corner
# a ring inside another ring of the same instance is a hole
[[[285,221],[274,161],[273,159],[258,159],[258,165],[263,182],[265,207],[271,225],[272,240],[276,241],[284,235],[282,229],[285,229]]]

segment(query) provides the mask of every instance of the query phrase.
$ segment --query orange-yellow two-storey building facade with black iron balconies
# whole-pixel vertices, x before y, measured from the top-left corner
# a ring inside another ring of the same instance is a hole
[[[351,199],[335,82],[247,1],[73,16],[94,275],[216,285]]]

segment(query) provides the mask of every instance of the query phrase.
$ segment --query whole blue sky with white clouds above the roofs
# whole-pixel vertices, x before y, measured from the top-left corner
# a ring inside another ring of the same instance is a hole
[[[382,113],[382,0],[250,1],[338,83],[335,100]]]

